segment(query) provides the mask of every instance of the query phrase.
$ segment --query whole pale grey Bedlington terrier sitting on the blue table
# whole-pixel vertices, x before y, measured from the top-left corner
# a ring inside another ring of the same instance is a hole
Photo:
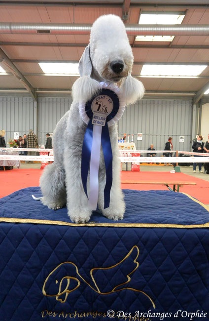
[[[90,43],[79,61],[81,77],[72,86],[70,110],[57,123],[53,133],[54,162],[44,168],[40,177],[43,195],[41,202],[52,209],[67,204],[68,215],[75,223],[88,222],[92,214],[88,200],[89,167],[86,174],[87,193],[81,177],[87,123],[81,117],[80,102],[86,103],[92,97],[97,97],[101,92],[101,83],[108,83],[117,84],[125,99],[124,106],[135,103],[143,96],[144,87],[131,76],[133,62],[132,49],[122,20],[112,14],[99,17],[92,26]],[[120,220],[125,212],[125,202],[120,185],[121,163],[116,123],[108,126],[108,132],[112,167],[109,170],[106,166],[108,156],[100,146],[97,207],[108,219]],[[94,162],[94,153],[91,154],[91,161]],[[88,162],[86,166],[89,166]],[[104,190],[109,175],[112,177],[109,203],[104,206]]]

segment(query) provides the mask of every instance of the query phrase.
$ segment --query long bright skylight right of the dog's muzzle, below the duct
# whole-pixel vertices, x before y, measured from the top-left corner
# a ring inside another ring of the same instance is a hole
[[[207,65],[143,65],[141,76],[198,76]]]

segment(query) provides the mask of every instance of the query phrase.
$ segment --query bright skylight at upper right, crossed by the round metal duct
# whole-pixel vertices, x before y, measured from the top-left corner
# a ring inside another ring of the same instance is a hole
[[[143,12],[139,17],[139,25],[179,25],[183,21],[184,12]],[[137,36],[136,41],[173,41],[174,36]]]

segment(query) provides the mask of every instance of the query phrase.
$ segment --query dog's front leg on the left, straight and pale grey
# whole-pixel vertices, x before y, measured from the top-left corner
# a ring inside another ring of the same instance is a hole
[[[81,159],[76,156],[76,152],[67,150],[65,170],[66,170],[66,190],[67,207],[70,220],[75,223],[86,223],[89,221],[92,211],[88,208],[88,199],[83,190],[81,180]]]

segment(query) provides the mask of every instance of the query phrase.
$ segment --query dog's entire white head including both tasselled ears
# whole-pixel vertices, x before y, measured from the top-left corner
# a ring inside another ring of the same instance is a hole
[[[73,85],[73,99],[90,99],[100,90],[99,82],[107,81],[122,87],[126,104],[134,103],[143,96],[144,87],[131,76],[133,62],[122,20],[112,14],[99,17],[92,26],[90,43],[79,61],[81,78]]]

